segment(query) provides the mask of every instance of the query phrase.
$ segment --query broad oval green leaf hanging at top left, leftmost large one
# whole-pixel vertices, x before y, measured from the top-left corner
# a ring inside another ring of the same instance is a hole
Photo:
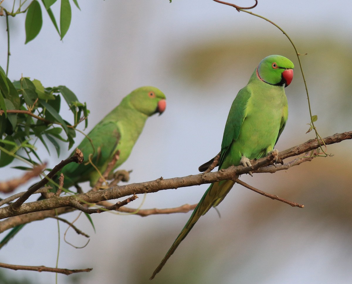
[[[40,8],[40,4],[37,0],[33,0],[28,7],[26,21],[25,21],[25,29],[26,29],[26,42],[33,40],[43,25],[42,19],[42,8]]]

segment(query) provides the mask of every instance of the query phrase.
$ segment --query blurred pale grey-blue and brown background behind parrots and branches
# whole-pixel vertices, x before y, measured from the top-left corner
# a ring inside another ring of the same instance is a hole
[[[6,0],[5,0],[6,1]],[[91,111],[86,133],[132,90],[160,88],[162,116],[151,117],[130,158],[131,183],[197,174],[219,152],[231,103],[259,61],[270,54],[291,59],[294,80],[285,89],[289,119],[276,148],[314,138],[307,96],[293,47],[273,25],[211,0],[79,1],[63,41],[46,13],[38,37],[24,45],[24,16],[10,18],[11,80],[31,77],[44,86],[66,85]],[[249,6],[252,1],[238,1]],[[12,5],[9,1],[8,5]],[[52,7],[58,13],[59,3]],[[281,26],[302,54],[315,123],[322,137],[351,130],[352,3],[259,1],[253,10]],[[0,17],[0,65],[6,66],[6,25]],[[62,108],[62,114],[68,110]],[[71,117],[69,117],[71,119]],[[83,136],[78,134],[77,142]],[[77,143],[78,144],[78,143]],[[153,283],[351,283],[351,141],[328,146],[333,157],[315,158],[287,172],[242,176],[261,190],[304,208],[260,196],[235,185],[224,202],[203,216]],[[42,157],[49,167],[67,157]],[[18,170],[1,169],[2,177]],[[4,178],[1,178],[4,179]],[[26,187],[25,187],[26,188]],[[84,187],[88,190],[88,184]],[[142,208],[199,202],[207,185],[149,194]],[[130,207],[138,207],[143,196]],[[62,215],[72,221],[77,212]],[[91,238],[84,249],[63,242],[59,267],[93,267],[58,276],[59,283],[150,283],[149,277],[191,212],[139,217],[113,213],[75,223]],[[7,233],[7,232],[6,232]],[[0,237],[5,235],[3,233]],[[69,230],[69,242],[86,239]],[[24,227],[0,251],[0,262],[55,266],[54,219]],[[49,272],[1,269],[6,283],[54,283]]]

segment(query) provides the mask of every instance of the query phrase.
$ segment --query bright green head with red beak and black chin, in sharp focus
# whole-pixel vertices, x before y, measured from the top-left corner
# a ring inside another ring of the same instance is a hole
[[[290,85],[293,79],[293,68],[291,60],[281,55],[269,55],[260,61],[257,67],[257,77],[275,86],[285,87]]]

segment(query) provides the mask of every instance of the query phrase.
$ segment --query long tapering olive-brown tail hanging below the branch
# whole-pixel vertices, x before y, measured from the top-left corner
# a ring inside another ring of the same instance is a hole
[[[178,245],[182,242],[184,238],[186,238],[189,231],[193,228],[194,224],[198,221],[198,219],[208,212],[208,210],[212,206],[217,206],[219,203],[225,198],[226,194],[230,191],[232,186],[234,185],[234,181],[232,180],[222,180],[217,181],[209,186],[207,191],[204,193],[202,199],[198,203],[197,207],[194,209],[191,217],[189,218],[186,225],[183,227],[180,235],[176,238],[175,242],[170,247],[168,253],[166,253],[165,257],[153,272],[153,275],[150,277],[150,280],[155,277],[155,275],[163,268],[166,261],[169,257],[174,253],[177,249]]]

